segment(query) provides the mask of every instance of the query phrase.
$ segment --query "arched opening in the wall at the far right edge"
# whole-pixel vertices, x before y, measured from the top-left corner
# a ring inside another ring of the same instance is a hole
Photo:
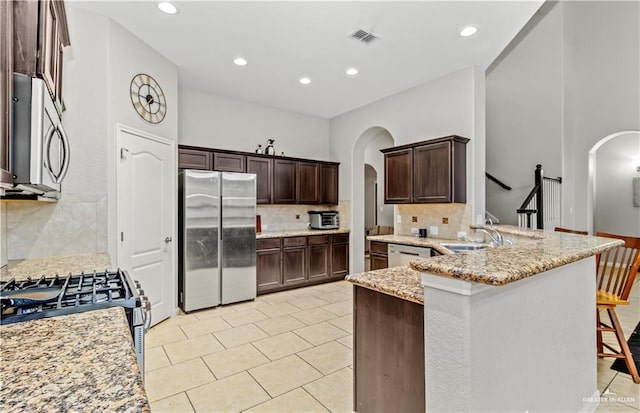
[[[640,237],[640,131],[613,133],[589,150],[587,216],[592,234]]]

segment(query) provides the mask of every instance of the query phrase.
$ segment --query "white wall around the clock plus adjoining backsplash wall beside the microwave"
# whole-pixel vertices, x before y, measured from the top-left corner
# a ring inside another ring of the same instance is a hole
[[[115,263],[117,122],[177,140],[177,67],[110,19],[67,4],[63,122],[71,145],[58,203],[6,202],[9,259],[109,252]],[[131,79],[152,75],[167,95],[164,121],[133,109]]]

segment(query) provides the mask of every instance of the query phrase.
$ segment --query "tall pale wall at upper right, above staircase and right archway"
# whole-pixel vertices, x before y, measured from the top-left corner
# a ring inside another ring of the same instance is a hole
[[[535,165],[562,176],[562,225],[588,228],[589,150],[640,129],[640,3],[548,3],[487,73],[487,210],[515,223]],[[588,28],[588,29],[585,29]]]

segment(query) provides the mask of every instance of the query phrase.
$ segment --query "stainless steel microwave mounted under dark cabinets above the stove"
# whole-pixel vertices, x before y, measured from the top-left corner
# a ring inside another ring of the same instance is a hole
[[[69,140],[42,79],[14,73],[13,116],[10,162],[15,189],[59,198],[69,168]]]

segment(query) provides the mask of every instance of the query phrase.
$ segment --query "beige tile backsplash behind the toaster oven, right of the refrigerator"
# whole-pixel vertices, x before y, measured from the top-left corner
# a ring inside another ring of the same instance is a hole
[[[307,229],[309,214],[307,211],[334,211],[340,213],[340,228],[349,228],[349,202],[340,201],[339,205],[258,205],[256,214],[260,215],[262,231],[298,231]],[[298,216],[298,218],[296,218]]]

